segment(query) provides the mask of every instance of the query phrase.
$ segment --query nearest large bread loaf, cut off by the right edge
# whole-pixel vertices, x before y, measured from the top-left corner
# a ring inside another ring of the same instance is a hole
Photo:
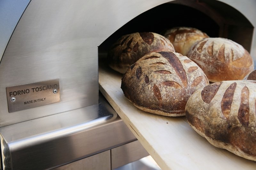
[[[212,145],[256,161],[256,81],[223,81],[196,91],[186,105],[189,124]]]

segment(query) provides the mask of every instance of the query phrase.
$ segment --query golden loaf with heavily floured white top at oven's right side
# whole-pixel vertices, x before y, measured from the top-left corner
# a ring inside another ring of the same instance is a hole
[[[210,82],[242,80],[253,70],[252,56],[241,45],[225,38],[205,38],[188,52]]]

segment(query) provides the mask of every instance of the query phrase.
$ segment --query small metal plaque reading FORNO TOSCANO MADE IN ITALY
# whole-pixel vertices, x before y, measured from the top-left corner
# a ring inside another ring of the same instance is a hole
[[[9,113],[60,101],[59,79],[6,87]]]

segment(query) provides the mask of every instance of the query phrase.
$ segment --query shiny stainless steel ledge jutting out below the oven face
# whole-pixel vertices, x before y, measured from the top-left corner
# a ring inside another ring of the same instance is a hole
[[[136,140],[104,102],[2,127],[0,135],[5,169],[26,170],[57,167]]]

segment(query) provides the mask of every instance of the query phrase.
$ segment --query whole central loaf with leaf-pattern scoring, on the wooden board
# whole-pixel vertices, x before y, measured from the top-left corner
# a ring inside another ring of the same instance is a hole
[[[208,84],[196,63],[179,53],[164,51],[147,54],[134,63],[124,74],[121,88],[141,110],[183,116],[190,95]]]

